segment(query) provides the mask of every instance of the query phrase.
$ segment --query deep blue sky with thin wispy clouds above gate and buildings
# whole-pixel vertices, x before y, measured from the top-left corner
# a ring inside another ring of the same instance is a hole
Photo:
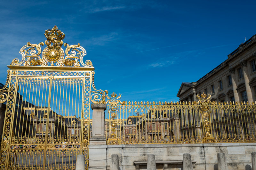
[[[181,82],[197,81],[256,34],[255,9],[256,1],[5,1],[0,81],[22,46],[44,42],[57,25],[64,43],[85,48],[97,89],[178,101]]]

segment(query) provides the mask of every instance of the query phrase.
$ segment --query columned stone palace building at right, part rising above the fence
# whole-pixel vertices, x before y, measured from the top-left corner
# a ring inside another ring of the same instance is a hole
[[[256,101],[256,35],[228,55],[228,59],[195,82],[182,82],[177,97],[196,101],[209,94],[216,102]]]

